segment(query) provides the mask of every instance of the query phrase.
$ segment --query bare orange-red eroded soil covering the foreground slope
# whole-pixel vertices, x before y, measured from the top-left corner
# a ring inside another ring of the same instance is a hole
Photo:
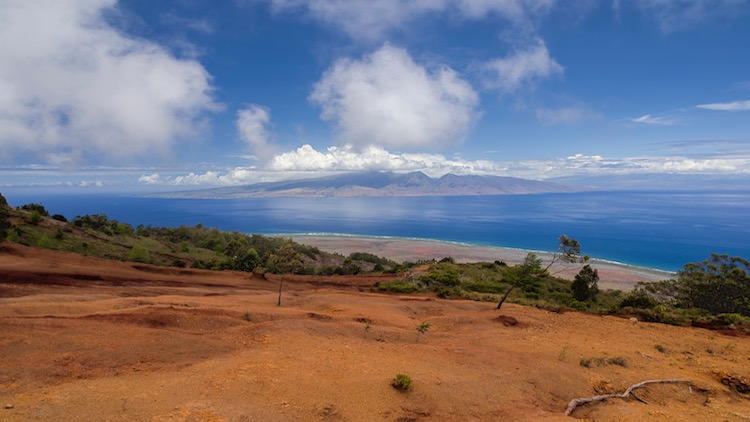
[[[269,278],[0,245],[0,420],[566,420],[572,398],[655,378],[694,385],[573,416],[750,418],[721,383],[750,376],[747,337],[387,295],[367,276],[285,276],[277,307]],[[616,356],[628,366],[579,364]]]

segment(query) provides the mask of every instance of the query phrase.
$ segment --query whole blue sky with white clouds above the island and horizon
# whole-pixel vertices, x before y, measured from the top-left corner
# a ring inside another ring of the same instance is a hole
[[[0,0],[0,57],[0,189],[750,176],[750,0]]]

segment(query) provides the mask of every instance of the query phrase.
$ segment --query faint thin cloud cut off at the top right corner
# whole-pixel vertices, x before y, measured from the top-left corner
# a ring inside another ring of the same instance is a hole
[[[746,0],[638,0],[636,4],[663,32],[671,33],[736,18]]]

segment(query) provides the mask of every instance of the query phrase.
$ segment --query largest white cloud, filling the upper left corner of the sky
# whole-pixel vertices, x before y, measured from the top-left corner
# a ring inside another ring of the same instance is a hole
[[[0,151],[55,163],[163,153],[218,108],[200,63],[107,24],[115,3],[2,2]]]

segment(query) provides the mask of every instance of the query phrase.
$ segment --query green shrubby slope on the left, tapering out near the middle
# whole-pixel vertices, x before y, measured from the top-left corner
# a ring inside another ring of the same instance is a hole
[[[11,224],[14,223],[14,224]],[[18,208],[0,195],[0,241],[73,252],[120,261],[209,270],[276,274],[350,275],[363,271],[396,273],[402,264],[367,253],[349,257],[280,237],[226,232],[197,224],[192,227],[138,226],[105,214],[65,216],[41,204]]]

